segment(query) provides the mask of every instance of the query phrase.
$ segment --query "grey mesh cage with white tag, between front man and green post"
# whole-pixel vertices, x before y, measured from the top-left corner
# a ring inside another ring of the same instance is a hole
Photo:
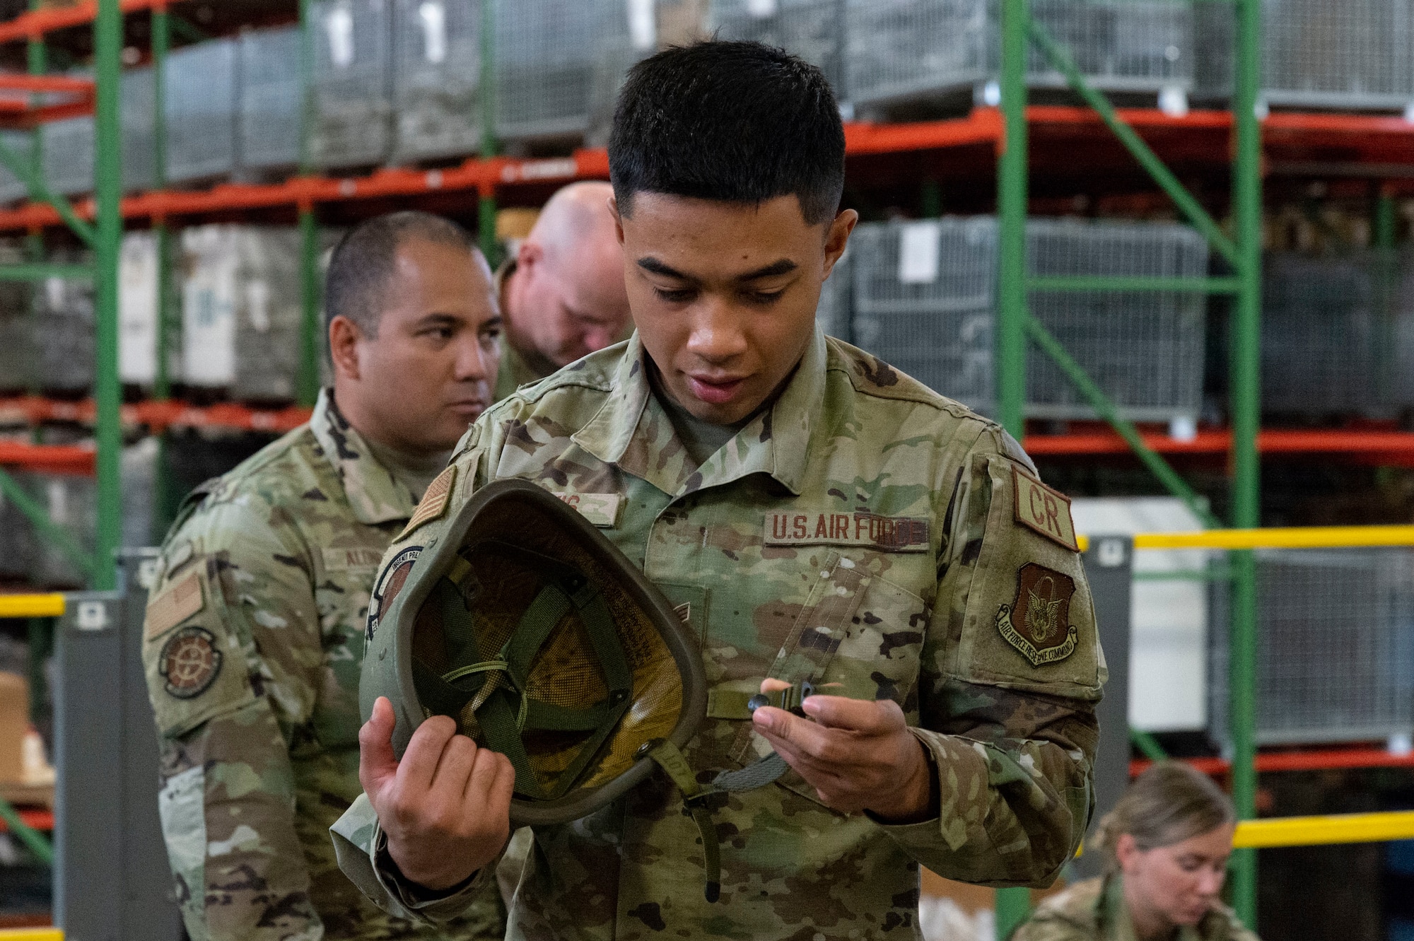
[[[997,223],[865,223],[850,240],[853,342],[973,408],[994,398]]]

